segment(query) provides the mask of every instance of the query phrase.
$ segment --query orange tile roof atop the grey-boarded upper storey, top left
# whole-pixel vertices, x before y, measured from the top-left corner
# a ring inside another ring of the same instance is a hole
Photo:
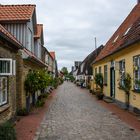
[[[30,20],[35,5],[0,5],[0,22]]]

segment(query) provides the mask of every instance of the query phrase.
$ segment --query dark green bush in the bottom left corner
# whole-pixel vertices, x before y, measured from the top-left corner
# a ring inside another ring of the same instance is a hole
[[[6,122],[0,125],[0,140],[16,140],[13,124]]]

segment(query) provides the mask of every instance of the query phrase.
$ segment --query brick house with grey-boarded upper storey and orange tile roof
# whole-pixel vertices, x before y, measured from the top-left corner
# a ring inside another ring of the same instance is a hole
[[[17,107],[29,108],[38,93],[26,96],[26,75],[30,70],[47,67],[42,61],[43,25],[37,24],[35,5],[0,5],[0,11],[0,23],[24,47],[17,56]]]

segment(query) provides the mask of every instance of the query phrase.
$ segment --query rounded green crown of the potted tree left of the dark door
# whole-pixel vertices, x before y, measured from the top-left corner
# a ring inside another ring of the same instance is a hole
[[[103,85],[103,75],[101,73],[96,74],[95,77],[94,77],[94,80],[95,80],[96,85],[98,85],[100,87],[101,92],[103,92],[103,87],[104,87],[104,85]]]

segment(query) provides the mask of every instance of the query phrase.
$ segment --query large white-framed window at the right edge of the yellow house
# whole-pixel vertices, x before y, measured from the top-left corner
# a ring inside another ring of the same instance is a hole
[[[140,90],[140,56],[134,57],[134,89]]]

